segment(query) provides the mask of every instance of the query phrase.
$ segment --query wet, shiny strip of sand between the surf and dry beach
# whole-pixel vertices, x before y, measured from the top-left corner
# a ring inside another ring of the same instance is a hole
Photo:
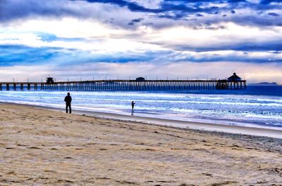
[[[0,104],[7,105],[23,105],[28,107],[36,107],[42,109],[49,109],[57,112],[65,112],[65,109],[54,108],[54,107],[44,107],[38,105],[26,105],[18,104],[11,102],[0,102]],[[133,121],[142,124],[151,124],[157,126],[167,126],[171,128],[180,128],[180,129],[192,129],[197,131],[209,131],[209,132],[218,132],[218,133],[231,133],[238,135],[253,135],[253,136],[262,136],[269,138],[278,138],[282,139],[282,130],[271,129],[271,128],[256,128],[250,126],[233,126],[233,125],[223,125],[223,124],[209,124],[209,123],[200,123],[192,121],[180,121],[175,119],[158,119],[153,117],[137,117],[124,114],[114,114],[106,112],[92,112],[92,111],[82,111],[72,109],[72,114],[80,114],[90,117],[97,117],[101,119],[114,119],[117,121]]]

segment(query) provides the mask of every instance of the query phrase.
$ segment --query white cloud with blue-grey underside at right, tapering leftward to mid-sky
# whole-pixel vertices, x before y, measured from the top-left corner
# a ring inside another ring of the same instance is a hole
[[[202,27],[161,29],[144,37],[151,44],[175,51],[279,51],[281,48],[281,27],[259,29],[233,23]]]

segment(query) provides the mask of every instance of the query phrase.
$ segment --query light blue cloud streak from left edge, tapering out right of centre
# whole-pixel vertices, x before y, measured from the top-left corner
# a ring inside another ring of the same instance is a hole
[[[93,53],[75,48],[59,47],[28,47],[23,45],[0,45],[0,67],[33,65],[33,64],[56,64],[57,67],[71,67],[80,63],[95,62],[151,62],[159,55],[169,55],[169,51],[155,52],[132,52],[126,53]]]

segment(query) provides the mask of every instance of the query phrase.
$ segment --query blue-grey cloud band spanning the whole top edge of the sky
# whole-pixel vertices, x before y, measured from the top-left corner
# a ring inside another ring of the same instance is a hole
[[[149,14],[144,16],[142,24],[154,21],[154,27],[164,27],[157,19],[166,20],[183,20],[185,24],[195,26],[203,23],[218,23],[218,22],[235,22],[239,25],[262,25],[262,26],[281,26],[282,20],[276,19],[278,13],[271,10],[282,9],[281,1],[266,1],[262,0],[255,4],[250,1],[243,0],[202,0],[202,1],[186,1],[186,0],[164,0],[159,3],[157,8],[147,8],[134,1],[125,0],[1,0],[0,3],[0,22],[10,22],[12,20],[23,20],[27,18],[63,18],[75,17],[81,19],[97,19],[101,20],[101,13],[105,10],[101,7],[93,9],[93,6],[117,6],[121,8],[128,8],[133,13]],[[222,6],[223,5],[223,6]],[[78,8],[80,7],[80,8]],[[100,8],[100,9],[99,9]],[[106,9],[111,14],[110,7]],[[245,9],[249,11],[244,12]],[[101,11],[101,13],[99,13]],[[240,14],[237,12],[240,11]],[[252,11],[252,13],[250,13]],[[265,18],[265,14],[269,18]],[[202,16],[203,15],[203,16]],[[210,16],[209,16],[210,15]],[[215,17],[218,15],[218,17]],[[134,18],[125,18],[128,24],[116,18],[115,21],[110,18],[102,18],[103,22],[121,27],[127,25],[134,25]],[[142,16],[143,17],[143,16]],[[197,18],[197,20],[195,19]],[[192,22],[190,20],[193,20]],[[169,23],[173,25],[174,23]],[[169,26],[166,24],[166,26]]]

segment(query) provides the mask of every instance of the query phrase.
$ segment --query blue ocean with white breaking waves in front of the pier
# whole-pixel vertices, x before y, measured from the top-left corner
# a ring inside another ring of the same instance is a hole
[[[65,108],[66,91],[0,91],[0,102]],[[282,86],[245,90],[71,92],[72,108],[282,130]],[[131,111],[131,102],[135,110]]]

